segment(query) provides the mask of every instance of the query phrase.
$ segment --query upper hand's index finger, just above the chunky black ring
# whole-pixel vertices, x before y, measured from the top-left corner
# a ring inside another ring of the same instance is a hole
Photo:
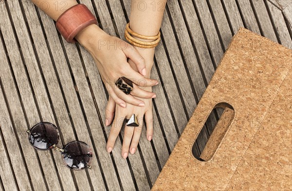
[[[131,67],[128,67],[125,70],[126,70],[125,77],[131,80],[134,84],[138,86],[150,87],[150,86],[158,85],[157,80],[145,78],[144,76],[142,76],[140,73],[138,73]]]

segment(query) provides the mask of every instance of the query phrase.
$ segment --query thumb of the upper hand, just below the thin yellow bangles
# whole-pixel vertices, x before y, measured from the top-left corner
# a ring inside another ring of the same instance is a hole
[[[142,75],[146,75],[146,65],[144,58],[140,55],[140,53],[130,44],[127,44],[127,48],[123,50],[125,55],[131,59],[136,65],[138,71]]]

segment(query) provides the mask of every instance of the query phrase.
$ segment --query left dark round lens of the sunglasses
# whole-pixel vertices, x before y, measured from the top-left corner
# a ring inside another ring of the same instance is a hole
[[[47,150],[58,143],[59,135],[56,127],[51,123],[39,123],[31,130],[29,140],[40,150]]]

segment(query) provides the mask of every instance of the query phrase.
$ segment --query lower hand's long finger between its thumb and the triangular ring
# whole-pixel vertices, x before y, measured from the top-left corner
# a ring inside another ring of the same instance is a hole
[[[121,131],[123,122],[125,120],[125,116],[121,112],[117,111],[116,109],[116,117],[114,118],[111,128],[110,128],[110,136],[107,143],[107,151],[110,153],[114,146],[114,143]]]

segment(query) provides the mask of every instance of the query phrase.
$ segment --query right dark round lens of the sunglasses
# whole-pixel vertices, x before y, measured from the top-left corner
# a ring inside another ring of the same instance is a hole
[[[82,141],[68,143],[63,152],[66,165],[73,170],[85,169],[91,160],[91,148]]]

